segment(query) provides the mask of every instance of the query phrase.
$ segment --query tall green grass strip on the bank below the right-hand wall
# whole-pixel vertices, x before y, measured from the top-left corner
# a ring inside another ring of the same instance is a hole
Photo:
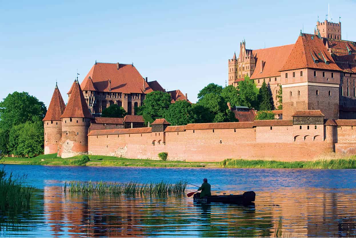
[[[319,159],[307,162],[283,162],[276,160],[225,159],[219,163],[225,168],[271,169],[356,169],[356,158]]]

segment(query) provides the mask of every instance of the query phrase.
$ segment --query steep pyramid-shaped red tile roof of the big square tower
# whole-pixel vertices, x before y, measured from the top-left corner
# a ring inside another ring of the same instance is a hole
[[[298,37],[292,52],[280,71],[303,68],[341,70],[326,49],[323,39],[317,35],[305,33]]]

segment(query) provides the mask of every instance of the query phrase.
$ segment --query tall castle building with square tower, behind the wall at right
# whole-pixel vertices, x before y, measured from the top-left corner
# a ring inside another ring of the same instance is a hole
[[[326,118],[356,119],[356,42],[341,39],[341,22],[316,22],[314,35],[300,32],[294,44],[246,49],[228,60],[229,85],[249,76],[268,84],[274,106],[282,85],[283,119],[297,110],[321,110]]]

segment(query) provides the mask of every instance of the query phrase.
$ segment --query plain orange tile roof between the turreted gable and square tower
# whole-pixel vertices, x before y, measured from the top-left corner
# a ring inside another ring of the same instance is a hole
[[[252,51],[256,57],[256,68],[251,75],[251,79],[281,76],[279,69],[286,63],[288,55],[293,49],[294,44],[277,46],[265,49],[255,49]],[[261,73],[261,61],[263,60],[263,70]]]

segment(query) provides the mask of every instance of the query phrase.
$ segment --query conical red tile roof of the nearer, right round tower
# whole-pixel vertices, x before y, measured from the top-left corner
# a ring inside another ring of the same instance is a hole
[[[66,109],[61,116],[64,117],[93,118],[78,82],[74,84]]]

